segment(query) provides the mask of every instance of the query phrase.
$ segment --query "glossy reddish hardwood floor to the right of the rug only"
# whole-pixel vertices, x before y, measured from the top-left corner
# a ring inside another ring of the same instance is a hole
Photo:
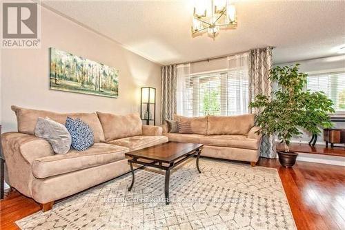
[[[286,169],[265,158],[258,165],[278,169],[298,229],[345,229],[345,167],[297,161]]]

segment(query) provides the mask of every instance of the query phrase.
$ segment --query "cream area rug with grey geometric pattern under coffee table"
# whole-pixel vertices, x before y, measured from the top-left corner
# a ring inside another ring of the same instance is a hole
[[[195,158],[164,174],[135,171],[17,221],[21,229],[296,229],[276,169]]]

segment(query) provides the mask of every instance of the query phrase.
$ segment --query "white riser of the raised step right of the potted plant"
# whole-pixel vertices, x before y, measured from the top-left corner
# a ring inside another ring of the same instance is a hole
[[[320,154],[303,154],[298,153],[297,161],[307,161],[311,163],[321,163],[327,165],[339,165],[345,167],[344,156],[326,156]]]

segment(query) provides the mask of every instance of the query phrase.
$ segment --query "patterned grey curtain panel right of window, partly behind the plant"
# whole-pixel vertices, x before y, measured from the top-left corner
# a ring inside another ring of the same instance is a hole
[[[272,48],[250,50],[249,56],[249,102],[254,101],[257,94],[271,96],[272,82],[269,79],[272,69]],[[259,114],[257,109],[250,109],[251,113]],[[263,136],[260,156],[276,158],[274,136]]]

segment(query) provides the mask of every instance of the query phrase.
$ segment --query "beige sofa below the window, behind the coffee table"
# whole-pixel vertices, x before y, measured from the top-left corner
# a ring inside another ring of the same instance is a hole
[[[167,132],[170,141],[204,144],[201,156],[248,161],[255,166],[259,159],[261,136],[256,134],[253,114],[241,116],[202,116],[187,118],[174,116],[175,121],[190,121],[193,134]]]

